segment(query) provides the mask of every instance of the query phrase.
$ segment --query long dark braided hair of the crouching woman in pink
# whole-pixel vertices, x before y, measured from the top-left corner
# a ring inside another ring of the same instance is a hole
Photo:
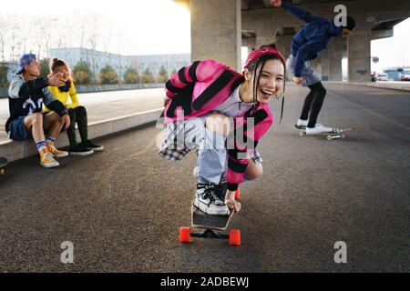
[[[264,47],[276,48],[276,44],[261,45],[260,49],[264,48]],[[283,68],[284,68],[281,119],[279,121],[279,123],[281,123],[282,122],[282,115],[283,115],[283,105],[284,105],[284,91],[285,91],[285,86],[286,86],[286,64],[284,63],[284,60],[279,55],[273,55],[273,54],[262,55],[261,57],[259,57],[255,61],[253,61],[248,66],[248,70],[253,75],[253,113],[256,112],[256,106],[257,106],[257,103],[258,103],[257,91],[258,91],[258,87],[259,87],[259,81],[261,79],[261,72],[263,70],[264,65],[269,60],[279,60],[282,63]],[[261,67],[261,69],[259,70],[259,73],[257,73],[258,67]]]

